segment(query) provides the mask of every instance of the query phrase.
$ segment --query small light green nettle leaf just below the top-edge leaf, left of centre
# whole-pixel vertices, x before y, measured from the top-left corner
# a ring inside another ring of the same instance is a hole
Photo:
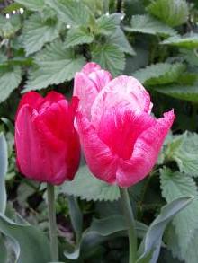
[[[64,42],[66,48],[74,47],[81,44],[89,44],[94,41],[93,34],[87,28],[80,26],[71,28],[67,32],[67,37]]]

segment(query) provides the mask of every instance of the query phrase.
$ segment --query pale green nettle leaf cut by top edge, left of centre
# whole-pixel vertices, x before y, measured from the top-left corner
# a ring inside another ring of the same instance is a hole
[[[47,4],[58,13],[59,19],[71,26],[86,25],[90,21],[90,11],[82,1],[48,0]]]

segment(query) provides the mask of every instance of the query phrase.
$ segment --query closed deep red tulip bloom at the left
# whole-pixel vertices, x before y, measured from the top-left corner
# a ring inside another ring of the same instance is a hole
[[[19,170],[29,179],[54,185],[75,176],[80,145],[74,128],[78,99],[68,104],[58,92],[42,98],[27,92],[15,119],[15,146]]]

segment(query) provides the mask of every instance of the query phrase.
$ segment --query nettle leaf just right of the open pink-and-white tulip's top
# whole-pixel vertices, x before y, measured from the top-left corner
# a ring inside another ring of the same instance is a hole
[[[133,76],[147,85],[161,85],[175,83],[184,72],[185,66],[181,63],[157,63],[134,72]]]

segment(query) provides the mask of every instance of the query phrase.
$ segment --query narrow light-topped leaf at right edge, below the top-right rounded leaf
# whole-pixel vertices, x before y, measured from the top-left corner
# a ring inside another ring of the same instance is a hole
[[[198,48],[198,34],[188,36],[175,36],[161,42],[162,45],[170,45],[178,48]]]

